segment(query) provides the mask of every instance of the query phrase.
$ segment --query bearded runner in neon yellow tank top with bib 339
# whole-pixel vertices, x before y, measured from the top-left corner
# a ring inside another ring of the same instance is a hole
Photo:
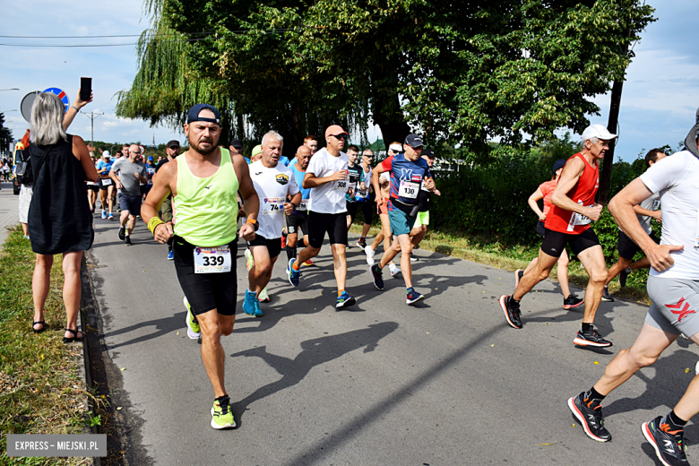
[[[239,234],[255,239],[259,199],[246,161],[218,147],[220,114],[207,104],[190,108],[185,125],[189,151],[177,163],[160,168],[142,206],[159,243],[173,238],[177,279],[185,292],[187,336],[202,337],[202,361],[213,385],[211,427],[236,427],[224,387],[220,336],[233,332],[236,314],[237,192],[245,203],[247,221]],[[158,217],[160,205],[172,194],[174,227]]]

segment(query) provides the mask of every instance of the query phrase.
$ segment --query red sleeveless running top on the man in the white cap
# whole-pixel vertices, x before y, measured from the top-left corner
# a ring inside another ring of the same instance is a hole
[[[582,176],[573,189],[566,194],[575,203],[579,203],[586,207],[591,207],[595,203],[595,195],[600,187],[600,168],[595,162],[594,166],[590,165],[582,153],[578,152],[573,157],[580,157],[585,164],[585,169],[582,171]],[[567,162],[566,162],[567,164]],[[590,228],[591,220],[575,213],[574,211],[566,211],[557,205],[551,205],[551,210],[546,216],[545,226],[547,229],[552,229],[560,233],[569,235],[580,235],[583,231]]]

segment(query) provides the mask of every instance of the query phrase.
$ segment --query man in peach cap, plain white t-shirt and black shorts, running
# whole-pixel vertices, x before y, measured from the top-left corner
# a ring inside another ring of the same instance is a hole
[[[289,282],[298,287],[299,266],[320,252],[327,233],[337,280],[337,309],[353,306],[357,300],[345,291],[347,281],[347,202],[354,195],[348,179],[347,154],[342,152],[347,132],[339,125],[325,130],[327,146],[315,155],[306,168],[303,187],[311,189],[311,210],[308,212],[308,247],[289,260]]]

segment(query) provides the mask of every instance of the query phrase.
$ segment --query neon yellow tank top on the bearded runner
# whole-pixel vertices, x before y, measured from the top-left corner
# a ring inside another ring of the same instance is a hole
[[[177,195],[172,198],[173,228],[194,246],[222,246],[236,238],[238,181],[228,149],[211,177],[195,177],[185,154],[177,157]]]

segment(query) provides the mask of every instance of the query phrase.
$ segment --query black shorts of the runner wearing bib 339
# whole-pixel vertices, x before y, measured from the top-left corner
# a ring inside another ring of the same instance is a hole
[[[177,280],[192,307],[192,313],[200,315],[216,309],[220,315],[235,315],[237,238],[229,244],[233,263],[230,272],[226,273],[194,273],[194,245],[176,236],[173,237],[172,246]]]

